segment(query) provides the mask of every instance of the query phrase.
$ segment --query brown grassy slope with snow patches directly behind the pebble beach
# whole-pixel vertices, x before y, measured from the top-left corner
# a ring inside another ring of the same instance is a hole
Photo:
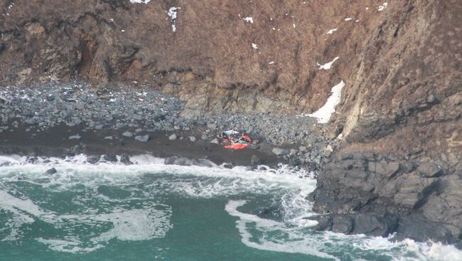
[[[365,40],[394,9],[380,4],[2,1],[0,75],[19,85],[156,85],[198,110],[311,111],[350,78]]]

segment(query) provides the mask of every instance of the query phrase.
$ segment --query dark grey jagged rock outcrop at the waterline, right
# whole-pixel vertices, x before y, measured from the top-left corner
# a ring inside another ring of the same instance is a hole
[[[460,171],[373,153],[338,154],[318,176],[317,229],[458,243]]]

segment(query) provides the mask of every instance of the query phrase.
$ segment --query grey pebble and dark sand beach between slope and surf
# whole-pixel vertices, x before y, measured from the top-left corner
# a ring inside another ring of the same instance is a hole
[[[151,154],[208,159],[216,164],[287,163],[321,169],[336,140],[301,115],[200,114],[149,88],[92,90],[82,84],[5,87],[0,96],[0,153],[25,156]],[[235,129],[252,138],[247,149],[220,145],[220,132]],[[104,156],[102,159],[105,159]]]

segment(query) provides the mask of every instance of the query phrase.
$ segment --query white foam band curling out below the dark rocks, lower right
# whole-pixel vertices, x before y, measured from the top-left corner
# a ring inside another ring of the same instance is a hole
[[[296,218],[276,222],[237,210],[246,203],[247,201],[229,201],[225,211],[238,218],[236,228],[240,232],[242,243],[259,250],[302,253],[330,260],[343,260],[343,257],[337,256],[342,249],[350,249],[349,260],[370,260],[371,256],[377,255],[382,256],[384,260],[399,261],[462,260],[462,251],[453,245],[416,243],[410,239],[393,242],[392,236],[381,238],[332,232],[307,232],[307,224],[294,223]],[[284,206],[284,208],[291,208],[291,206]],[[314,215],[311,213],[311,208],[305,208],[298,214]],[[310,225],[314,223],[308,226]]]

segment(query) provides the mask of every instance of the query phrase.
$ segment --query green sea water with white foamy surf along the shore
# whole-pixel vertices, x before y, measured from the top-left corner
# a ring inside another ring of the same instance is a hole
[[[451,245],[314,231],[308,171],[131,161],[0,156],[0,260],[462,260]]]

